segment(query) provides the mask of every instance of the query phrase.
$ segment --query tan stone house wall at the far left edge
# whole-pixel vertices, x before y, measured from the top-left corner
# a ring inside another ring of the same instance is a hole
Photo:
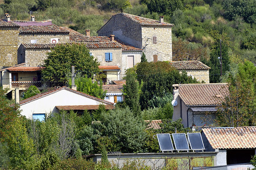
[[[18,28],[0,28],[0,69],[17,64]]]

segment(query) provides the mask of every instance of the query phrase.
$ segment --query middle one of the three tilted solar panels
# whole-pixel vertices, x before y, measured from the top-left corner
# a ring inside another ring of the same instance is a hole
[[[184,133],[173,133],[173,141],[176,150],[180,151],[188,151],[190,148],[188,147],[186,134]]]

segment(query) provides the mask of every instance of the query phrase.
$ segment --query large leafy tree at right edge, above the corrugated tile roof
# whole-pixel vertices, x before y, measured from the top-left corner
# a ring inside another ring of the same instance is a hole
[[[255,75],[253,63],[245,61],[238,64],[238,71],[228,74],[229,94],[220,105],[218,121],[222,126],[255,126],[256,100]]]

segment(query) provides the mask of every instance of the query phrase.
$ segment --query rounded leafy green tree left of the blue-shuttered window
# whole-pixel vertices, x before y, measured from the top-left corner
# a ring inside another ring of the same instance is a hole
[[[45,59],[43,79],[51,82],[52,86],[64,86],[72,66],[88,78],[99,73],[99,62],[90,55],[85,44],[57,44]]]

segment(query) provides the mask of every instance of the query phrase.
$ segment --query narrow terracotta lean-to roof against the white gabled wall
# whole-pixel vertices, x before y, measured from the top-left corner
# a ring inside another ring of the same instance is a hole
[[[114,105],[104,105],[106,110],[112,110],[115,109]],[[57,109],[59,110],[64,110],[64,111],[84,111],[84,110],[98,110],[99,105],[59,105],[56,106]]]

